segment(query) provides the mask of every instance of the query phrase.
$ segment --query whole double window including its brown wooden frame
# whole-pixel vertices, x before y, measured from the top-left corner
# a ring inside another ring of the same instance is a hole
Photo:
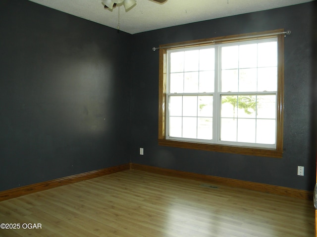
[[[159,144],[281,157],[282,32],[161,45]]]

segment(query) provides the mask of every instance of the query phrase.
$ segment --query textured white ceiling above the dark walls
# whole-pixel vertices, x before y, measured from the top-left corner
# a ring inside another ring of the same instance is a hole
[[[127,12],[123,5],[112,10],[104,9],[101,0],[30,1],[115,29],[120,16],[120,31],[136,34],[313,0],[167,0],[164,3],[136,0],[137,4]]]

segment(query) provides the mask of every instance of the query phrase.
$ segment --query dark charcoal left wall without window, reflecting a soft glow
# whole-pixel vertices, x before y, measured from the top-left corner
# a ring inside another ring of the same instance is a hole
[[[128,163],[131,35],[0,2],[0,191]]]

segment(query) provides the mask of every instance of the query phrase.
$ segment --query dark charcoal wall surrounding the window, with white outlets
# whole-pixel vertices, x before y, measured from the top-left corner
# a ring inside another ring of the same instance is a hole
[[[315,185],[316,146],[312,130],[312,37],[316,1],[170,27],[132,36],[131,144],[134,163],[254,181],[296,189]],[[283,158],[265,158],[158,146],[159,44],[284,28],[285,110]],[[316,42],[316,40],[315,40]],[[314,143],[314,144],[313,144]],[[139,155],[144,148],[144,156]],[[305,176],[297,176],[297,166]]]

